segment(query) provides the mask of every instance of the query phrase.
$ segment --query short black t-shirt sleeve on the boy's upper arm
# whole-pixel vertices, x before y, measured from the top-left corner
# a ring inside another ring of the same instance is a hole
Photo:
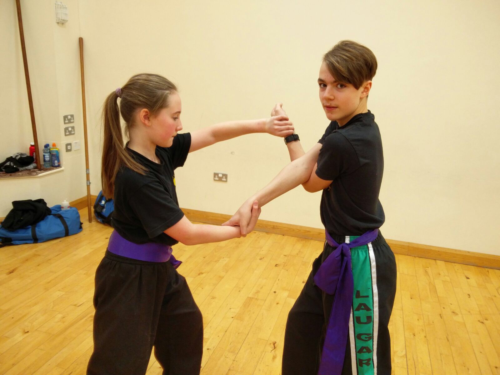
[[[359,166],[356,152],[350,142],[340,133],[325,136],[317,158],[316,175],[333,180],[340,173],[349,172]]]

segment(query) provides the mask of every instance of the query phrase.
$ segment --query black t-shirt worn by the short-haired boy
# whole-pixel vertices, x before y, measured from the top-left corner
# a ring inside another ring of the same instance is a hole
[[[331,121],[321,139],[316,175],[332,180],[321,195],[321,222],[331,235],[360,235],[384,220],[378,200],[383,173],[380,131],[368,111],[339,127]]]

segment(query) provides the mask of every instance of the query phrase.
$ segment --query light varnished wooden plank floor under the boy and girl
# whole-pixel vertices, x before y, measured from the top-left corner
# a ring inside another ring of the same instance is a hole
[[[83,374],[95,268],[111,232],[0,249],[0,373]],[[322,243],[253,232],[174,254],[203,313],[204,375],[277,375],[288,310]],[[500,373],[500,271],[396,255],[393,373]],[[151,358],[148,375],[161,374]]]

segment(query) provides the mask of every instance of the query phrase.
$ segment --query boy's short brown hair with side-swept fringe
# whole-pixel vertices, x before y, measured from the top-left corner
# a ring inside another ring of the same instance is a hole
[[[340,40],[323,55],[330,74],[339,82],[350,83],[356,89],[371,80],[376,73],[376,57],[362,44]]]

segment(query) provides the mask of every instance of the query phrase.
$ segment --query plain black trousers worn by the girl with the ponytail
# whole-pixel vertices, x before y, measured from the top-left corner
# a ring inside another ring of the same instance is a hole
[[[95,272],[94,349],[87,375],[141,375],[151,349],[163,375],[199,374],[201,312],[169,262],[106,251]]]

